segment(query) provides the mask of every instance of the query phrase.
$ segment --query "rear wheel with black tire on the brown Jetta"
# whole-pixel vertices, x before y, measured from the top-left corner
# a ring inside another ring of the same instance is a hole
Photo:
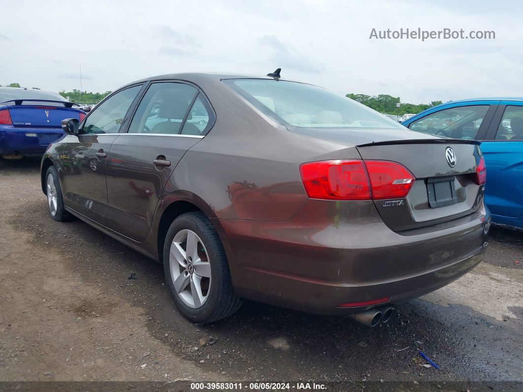
[[[173,221],[165,237],[163,264],[170,294],[187,319],[206,324],[240,308],[222,242],[202,212],[187,212]]]

